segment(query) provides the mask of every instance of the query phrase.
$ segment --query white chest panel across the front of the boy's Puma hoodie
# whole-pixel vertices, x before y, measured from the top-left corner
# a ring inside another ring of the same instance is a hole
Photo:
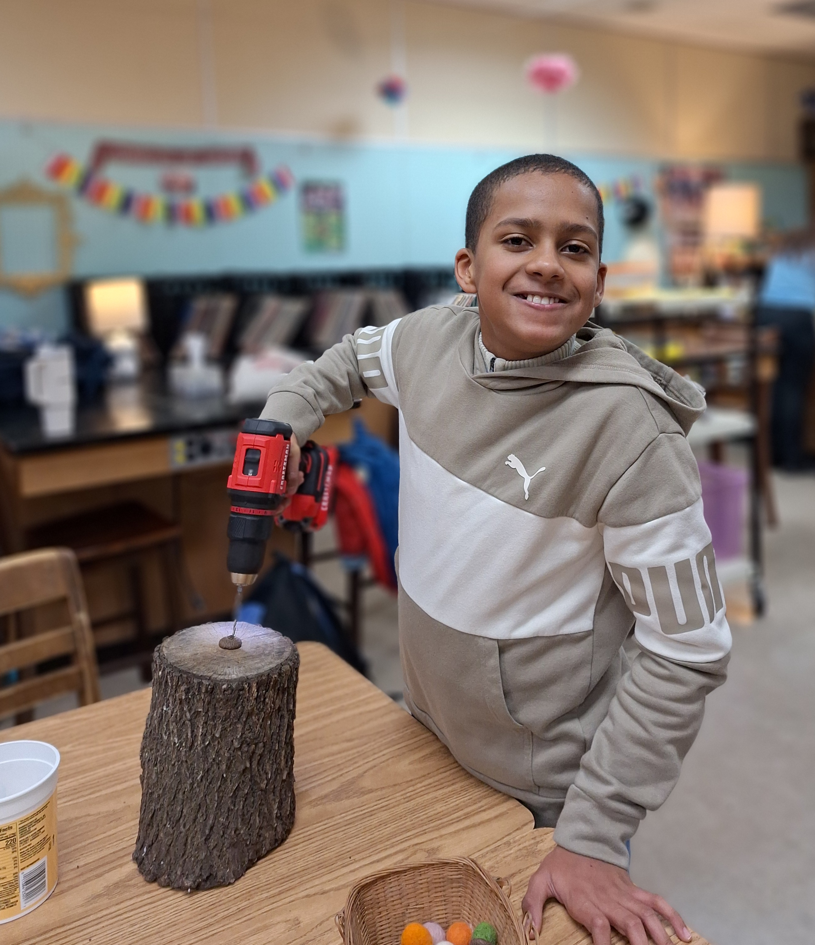
[[[598,529],[501,502],[420,450],[401,413],[399,427],[399,577],[412,600],[499,640],[591,630],[605,569]]]

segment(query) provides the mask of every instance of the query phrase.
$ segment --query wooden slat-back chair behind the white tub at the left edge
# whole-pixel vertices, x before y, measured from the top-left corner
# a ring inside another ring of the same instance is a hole
[[[68,624],[19,634],[26,611],[63,603]],[[0,679],[18,671],[21,679],[0,686],[0,719],[20,715],[46,699],[75,692],[80,705],[99,700],[94,639],[79,576],[77,558],[67,548],[43,548],[0,558],[0,617],[9,632],[0,644]],[[70,656],[67,666],[49,669],[48,661]],[[45,663],[37,675],[33,668]]]

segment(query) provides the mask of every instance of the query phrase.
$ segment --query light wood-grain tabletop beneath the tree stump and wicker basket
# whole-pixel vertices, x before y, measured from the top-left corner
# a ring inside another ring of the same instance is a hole
[[[526,808],[467,774],[325,647],[299,649],[294,829],[232,886],[161,888],[130,858],[149,691],[0,731],[4,741],[50,742],[62,756],[59,885],[3,926],[4,945],[339,945],[334,916],[357,880],[431,857],[474,857],[512,880],[520,908],[552,832],[534,831]],[[546,906],[544,929],[546,945],[590,941],[556,902]]]

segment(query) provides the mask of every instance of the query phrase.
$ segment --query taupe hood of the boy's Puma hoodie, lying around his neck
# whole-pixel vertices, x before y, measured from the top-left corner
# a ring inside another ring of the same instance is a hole
[[[481,370],[476,348],[480,322],[477,308],[461,310],[472,318],[471,331],[460,343],[461,363],[473,380],[494,390],[541,390],[561,384],[628,384],[641,387],[667,404],[685,432],[704,412],[702,387],[678,374],[668,365],[649,357],[636,345],[611,329],[586,324],[577,333],[580,347],[560,361],[537,367],[505,369],[496,373]]]

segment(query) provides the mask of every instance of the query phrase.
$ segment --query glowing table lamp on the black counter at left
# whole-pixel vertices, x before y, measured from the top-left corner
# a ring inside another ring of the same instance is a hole
[[[102,279],[85,284],[85,313],[91,335],[113,355],[109,376],[130,380],[141,369],[139,335],[147,329],[147,295],[140,279]]]

